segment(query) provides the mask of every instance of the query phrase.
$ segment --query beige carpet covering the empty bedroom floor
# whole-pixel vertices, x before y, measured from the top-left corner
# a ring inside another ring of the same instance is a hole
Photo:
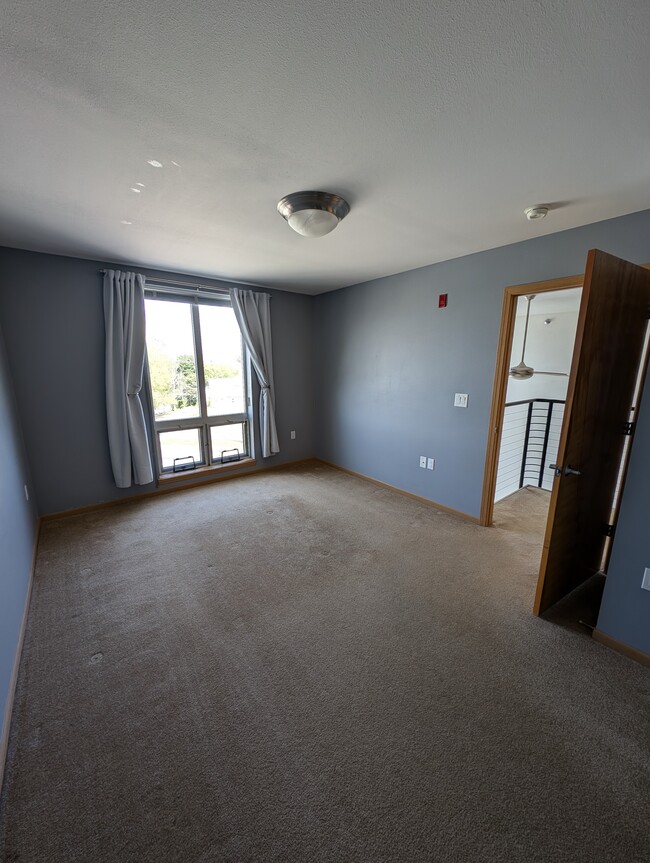
[[[2,859],[647,863],[650,674],[539,550],[323,466],[45,525]]]

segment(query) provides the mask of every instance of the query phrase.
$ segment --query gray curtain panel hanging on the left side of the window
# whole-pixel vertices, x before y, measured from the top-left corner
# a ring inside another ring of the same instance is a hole
[[[115,485],[153,482],[151,453],[140,401],[145,351],[144,276],[106,270],[106,414]]]

